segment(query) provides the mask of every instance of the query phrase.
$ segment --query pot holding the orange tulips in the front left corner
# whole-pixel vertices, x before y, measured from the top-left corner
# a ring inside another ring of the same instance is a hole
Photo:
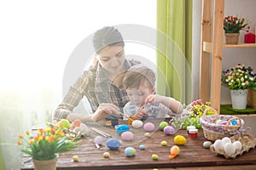
[[[33,159],[34,169],[35,170],[56,170],[57,158],[50,160],[35,160]]]

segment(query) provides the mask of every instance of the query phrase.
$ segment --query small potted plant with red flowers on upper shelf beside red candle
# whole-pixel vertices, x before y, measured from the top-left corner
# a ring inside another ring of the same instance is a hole
[[[240,31],[244,30],[248,24],[249,22],[244,18],[238,18],[232,15],[224,17],[224,33],[226,43],[237,44]]]

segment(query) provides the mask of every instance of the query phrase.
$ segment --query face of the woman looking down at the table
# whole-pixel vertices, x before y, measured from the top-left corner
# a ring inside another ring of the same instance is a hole
[[[105,70],[111,73],[117,73],[123,68],[125,49],[121,45],[108,46],[99,52],[97,59]]]

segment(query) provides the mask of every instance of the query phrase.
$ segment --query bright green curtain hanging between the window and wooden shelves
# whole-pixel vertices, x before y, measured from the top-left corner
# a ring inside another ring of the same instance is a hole
[[[191,102],[192,0],[157,1],[157,92]]]

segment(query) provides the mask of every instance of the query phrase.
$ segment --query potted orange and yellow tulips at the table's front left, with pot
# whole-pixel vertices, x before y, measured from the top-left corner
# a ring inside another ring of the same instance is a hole
[[[38,133],[34,135],[30,131],[26,131],[25,135],[20,134],[17,144],[22,147],[22,152],[32,156],[36,170],[55,170],[58,153],[73,150],[79,143],[75,141],[73,133],[65,132],[69,131],[62,120],[54,126],[39,128]]]

